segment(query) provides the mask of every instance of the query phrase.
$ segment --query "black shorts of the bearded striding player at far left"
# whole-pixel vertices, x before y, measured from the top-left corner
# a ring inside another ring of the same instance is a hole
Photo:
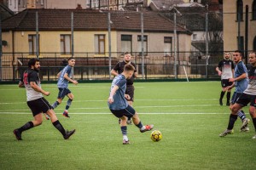
[[[26,104],[31,109],[33,116],[36,116],[42,112],[46,113],[52,109],[52,106],[49,105],[49,102],[44,98],[27,101]]]

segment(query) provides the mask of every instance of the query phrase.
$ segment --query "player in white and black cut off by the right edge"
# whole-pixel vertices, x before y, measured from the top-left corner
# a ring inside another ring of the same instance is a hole
[[[250,67],[248,68],[248,78],[249,83],[247,89],[241,94],[241,96],[236,100],[236,103],[232,106],[230,121],[228,128],[224,130],[223,133],[220,133],[220,137],[224,137],[227,134],[232,133],[232,129],[237,119],[237,113],[241,110],[242,107],[247,106],[250,103],[249,113],[253,119],[253,126],[256,131],[256,52],[249,54]],[[256,139],[256,135],[252,139]]]

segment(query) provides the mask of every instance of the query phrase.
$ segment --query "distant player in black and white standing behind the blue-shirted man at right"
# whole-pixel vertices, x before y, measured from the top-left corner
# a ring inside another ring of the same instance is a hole
[[[231,92],[230,92],[230,89],[227,90],[227,87],[232,85],[232,82],[229,82],[229,79],[233,78],[233,75],[234,75],[234,63],[232,60],[230,60],[229,52],[224,53],[224,59],[222,59],[218,63],[218,66],[216,67],[216,71],[218,72],[218,76],[221,76],[221,86],[222,86],[222,91],[219,97],[219,105],[223,105],[222,99],[226,91],[228,91],[226,105],[230,105]]]

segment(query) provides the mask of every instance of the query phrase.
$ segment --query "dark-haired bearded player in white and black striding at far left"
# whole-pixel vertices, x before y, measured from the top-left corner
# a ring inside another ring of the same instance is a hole
[[[43,112],[50,116],[53,126],[60,131],[63,138],[69,139],[69,137],[75,132],[75,129],[72,131],[65,130],[55,115],[55,112],[52,110],[51,105],[49,105],[49,102],[44,99],[43,94],[49,96],[49,92],[44,91],[44,89],[41,88],[38,76],[38,71],[40,70],[39,59],[30,59],[28,61],[28,67],[29,68],[23,74],[22,82],[26,88],[26,104],[31,109],[34,120],[26,122],[22,127],[14,130],[16,139],[22,140],[21,133],[32,127],[41,125],[43,122],[43,115],[41,113]]]

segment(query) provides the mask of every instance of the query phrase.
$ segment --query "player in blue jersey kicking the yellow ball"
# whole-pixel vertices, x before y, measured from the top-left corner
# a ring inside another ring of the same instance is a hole
[[[126,79],[131,78],[134,71],[135,68],[133,65],[125,65],[124,71],[119,74],[119,76],[114,77],[108,97],[109,110],[114,116],[121,120],[120,127],[123,134],[123,144],[130,144],[127,137],[127,117],[132,118],[132,122],[140,129],[141,133],[150,131],[154,127],[154,125],[143,126],[137,112],[131,107],[131,105],[128,105],[126,100],[130,99],[129,94],[125,94]]]

